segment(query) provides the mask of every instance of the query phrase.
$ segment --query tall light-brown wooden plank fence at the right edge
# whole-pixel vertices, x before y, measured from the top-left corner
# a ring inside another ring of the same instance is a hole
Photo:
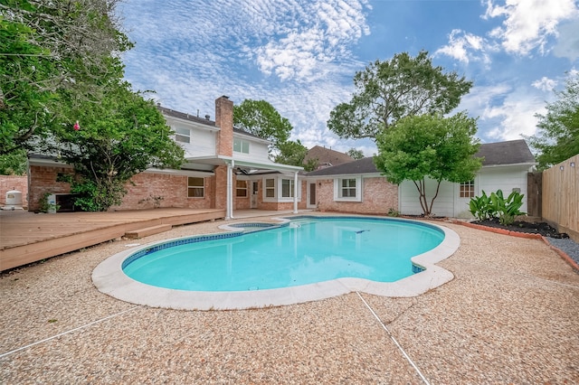
[[[579,154],[543,172],[543,220],[579,242]]]

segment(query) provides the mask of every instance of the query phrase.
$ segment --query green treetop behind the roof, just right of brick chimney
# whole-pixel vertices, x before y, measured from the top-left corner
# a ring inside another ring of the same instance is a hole
[[[239,106],[233,106],[233,126],[270,140],[273,152],[280,151],[292,129],[289,120],[281,117],[270,103],[252,99],[245,99]]]

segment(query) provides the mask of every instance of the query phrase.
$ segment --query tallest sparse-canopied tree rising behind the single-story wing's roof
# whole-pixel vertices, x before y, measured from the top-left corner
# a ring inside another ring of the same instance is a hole
[[[345,138],[375,138],[400,118],[448,114],[472,86],[456,72],[433,67],[428,52],[416,57],[398,53],[390,61],[375,61],[354,76],[356,91],[348,103],[330,112],[327,127]]]

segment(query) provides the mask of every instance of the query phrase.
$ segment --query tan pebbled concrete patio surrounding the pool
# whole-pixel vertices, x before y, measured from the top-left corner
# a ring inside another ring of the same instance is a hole
[[[101,294],[90,275],[134,239],[5,272],[0,381],[578,383],[579,275],[540,239],[438,223],[461,239],[439,264],[455,278],[410,298],[350,293],[207,312],[133,305]]]

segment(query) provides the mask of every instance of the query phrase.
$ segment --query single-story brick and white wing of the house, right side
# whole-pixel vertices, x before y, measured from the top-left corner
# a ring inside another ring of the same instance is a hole
[[[482,144],[478,157],[482,167],[472,181],[442,181],[432,213],[453,218],[470,218],[470,198],[502,190],[506,195],[517,191],[527,196],[527,173],[535,166],[535,157],[524,140]],[[373,158],[338,164],[307,173],[307,207],[322,211],[345,211],[387,214],[395,210],[407,215],[422,214],[419,195],[412,181],[399,186],[386,181],[376,169]],[[434,195],[436,183],[426,181],[428,197]],[[527,211],[527,199],[521,211]]]

